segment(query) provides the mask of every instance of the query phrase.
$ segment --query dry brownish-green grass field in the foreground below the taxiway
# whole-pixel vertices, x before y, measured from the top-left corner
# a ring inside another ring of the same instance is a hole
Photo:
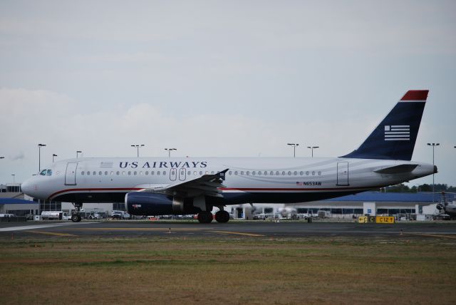
[[[456,304],[455,239],[0,240],[1,304]]]

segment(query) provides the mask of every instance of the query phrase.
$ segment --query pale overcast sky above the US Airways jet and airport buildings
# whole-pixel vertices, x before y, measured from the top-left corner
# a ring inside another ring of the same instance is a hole
[[[455,1],[0,1],[0,184],[56,160],[350,153],[430,90],[413,160],[456,185]],[[432,176],[409,185],[432,183]]]

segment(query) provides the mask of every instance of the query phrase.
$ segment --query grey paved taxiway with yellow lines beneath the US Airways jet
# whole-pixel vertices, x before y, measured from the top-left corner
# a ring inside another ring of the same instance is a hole
[[[0,239],[11,238],[442,238],[456,241],[456,222],[18,222],[0,223]]]

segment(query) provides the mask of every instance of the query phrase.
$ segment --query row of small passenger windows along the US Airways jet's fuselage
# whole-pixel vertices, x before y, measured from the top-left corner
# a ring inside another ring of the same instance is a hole
[[[150,172],[149,172],[148,170],[146,170],[145,172],[138,172],[138,171],[133,171],[133,172],[132,172],[131,170],[129,170],[128,172],[125,172],[125,171],[123,171],[123,172],[120,172],[120,171],[117,171],[117,172],[108,172],[108,171],[105,171],[105,172],[104,172],[104,175],[105,175],[105,176],[108,176],[108,175],[110,174],[111,176],[113,176],[113,175],[117,175],[117,176],[119,176],[119,175],[129,175],[129,176],[131,176],[131,175],[134,175],[134,176],[140,175],[140,176],[141,176],[141,175],[144,174],[144,175],[147,176],[147,175],[149,175],[149,173],[150,173],[150,175],[155,175],[155,173],[156,173],[157,175],[166,175],[166,171],[165,171],[165,170],[163,170],[163,171],[157,170],[157,172],[155,172],[155,171],[153,171],[153,170],[150,171]],[[212,171],[212,172],[210,172],[210,173],[211,173],[211,174],[214,174],[215,172]],[[311,172],[310,172],[309,170],[306,171],[306,172],[301,171],[301,172],[299,172],[299,175],[300,175],[300,176],[304,176],[304,173],[306,174],[306,176],[309,176],[309,175],[312,175],[312,176],[315,176],[315,175],[321,176],[321,172],[320,172],[320,171],[316,172],[316,171],[314,171],[314,170],[311,171]],[[83,172],[81,172],[81,175],[88,175],[88,176],[90,176],[90,175],[95,176],[95,175],[97,175],[97,174],[98,174],[98,176],[102,176],[102,175],[103,175],[103,172],[102,172],[102,171],[99,171],[99,172],[95,172],[95,171],[93,171],[93,172],[90,172],[90,171],[84,172],[84,171],[83,171]],[[192,171],[190,171],[190,170],[187,172],[187,175],[192,175],[192,174],[196,176],[196,175],[198,175],[198,172],[197,172],[196,170],[195,170],[194,172],[192,172]],[[203,174],[206,174],[206,175],[207,175],[207,174],[209,174],[209,172],[203,172],[202,170],[200,170],[200,171],[199,171],[199,175],[202,176]],[[42,175],[42,174],[41,174],[41,175]],[[46,175],[46,173],[45,173],[44,175]],[[244,170],[241,170],[241,171],[239,171],[239,172],[238,172],[237,170],[234,171],[234,172],[233,172],[232,170],[230,170],[230,171],[228,172],[228,175],[244,175]],[[273,175],[276,175],[276,176],[279,176],[279,175],[282,175],[282,176],[285,176],[285,175],[289,175],[289,176],[294,175],[294,176],[297,176],[297,175],[298,175],[298,172],[297,172],[296,170],[295,170],[294,172],[291,172],[291,171],[288,171],[288,172],[286,172],[286,171],[279,172],[278,170],[277,170],[276,172],[273,172],[273,171],[268,172],[268,171],[266,171],[266,170],[265,170],[265,171],[255,171],[255,170],[253,170],[252,172],[250,172],[249,170],[247,170],[247,171],[245,172],[245,175],[247,175],[247,176],[249,176],[249,175],[252,175],[252,176],[256,176],[256,175],[258,175],[258,176],[261,176],[261,175],[263,175],[263,176],[267,176],[267,175],[270,175],[270,176],[273,176]]]

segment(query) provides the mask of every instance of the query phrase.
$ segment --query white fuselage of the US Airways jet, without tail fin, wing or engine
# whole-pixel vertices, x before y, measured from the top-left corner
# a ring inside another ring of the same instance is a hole
[[[417,166],[410,172],[375,172],[397,165]],[[339,197],[424,177],[434,167],[404,160],[343,157],[94,157],[55,162],[46,170],[51,172],[43,175],[42,171],[27,180],[22,190],[41,200],[63,202],[123,202],[128,192],[228,170],[219,187],[223,199],[214,198],[214,203],[235,205]]]

